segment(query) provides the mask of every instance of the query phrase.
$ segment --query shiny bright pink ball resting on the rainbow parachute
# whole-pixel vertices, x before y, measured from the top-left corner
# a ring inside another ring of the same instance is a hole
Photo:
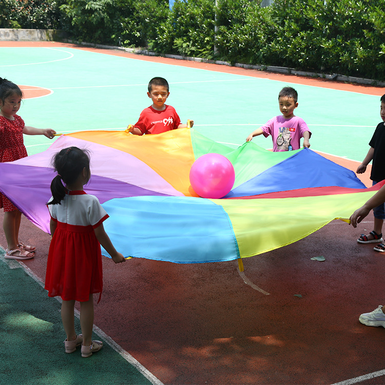
[[[219,153],[206,153],[190,169],[190,183],[202,198],[219,199],[234,186],[235,171],[232,163]]]

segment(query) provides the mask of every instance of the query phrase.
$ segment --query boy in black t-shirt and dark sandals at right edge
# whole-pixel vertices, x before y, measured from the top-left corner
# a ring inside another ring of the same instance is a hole
[[[380,115],[382,122],[378,123],[373,137],[369,142],[370,149],[363,162],[357,168],[357,174],[362,174],[367,169],[370,161],[372,163],[372,172],[370,179],[373,181],[373,185],[385,179],[385,94],[381,97],[381,109]],[[382,225],[385,219],[385,207],[384,204],[373,209],[374,226],[373,231],[368,235],[361,234],[357,239],[358,243],[379,243],[374,247],[377,252],[385,252],[385,244],[382,243]]]

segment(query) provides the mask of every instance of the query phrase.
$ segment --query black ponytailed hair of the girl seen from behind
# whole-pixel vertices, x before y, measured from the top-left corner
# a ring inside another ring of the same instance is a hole
[[[52,159],[52,163],[58,175],[52,179],[52,200],[47,204],[61,204],[66,196],[66,188],[62,181],[67,185],[73,183],[78,179],[84,168],[90,175],[90,156],[87,150],[73,146],[63,148],[57,152]]]

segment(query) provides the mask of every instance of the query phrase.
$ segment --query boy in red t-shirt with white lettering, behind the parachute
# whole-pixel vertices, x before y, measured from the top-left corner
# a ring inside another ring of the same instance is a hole
[[[175,108],[164,104],[170,94],[168,90],[166,79],[157,77],[150,80],[147,95],[152,100],[152,105],[141,112],[137,123],[128,125],[129,132],[143,135],[187,127],[187,124],[181,123]],[[193,125],[194,121],[190,120],[189,127]]]

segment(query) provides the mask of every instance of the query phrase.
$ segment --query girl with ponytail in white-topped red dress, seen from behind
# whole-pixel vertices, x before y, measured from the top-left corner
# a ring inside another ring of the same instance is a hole
[[[57,176],[52,180],[52,198],[48,202],[52,241],[49,247],[45,288],[48,296],[61,296],[62,321],[67,338],[66,353],[82,344],[82,356],[102,349],[101,341],[92,341],[93,294],[102,294],[103,272],[100,245],[115,263],[125,262],[106,234],[103,221],[108,214],[97,197],[88,195],[83,186],[90,179],[90,159],[86,150],[64,148],[53,165]],[[65,186],[63,185],[64,182]],[[74,328],[74,305],[80,301],[82,334]]]

